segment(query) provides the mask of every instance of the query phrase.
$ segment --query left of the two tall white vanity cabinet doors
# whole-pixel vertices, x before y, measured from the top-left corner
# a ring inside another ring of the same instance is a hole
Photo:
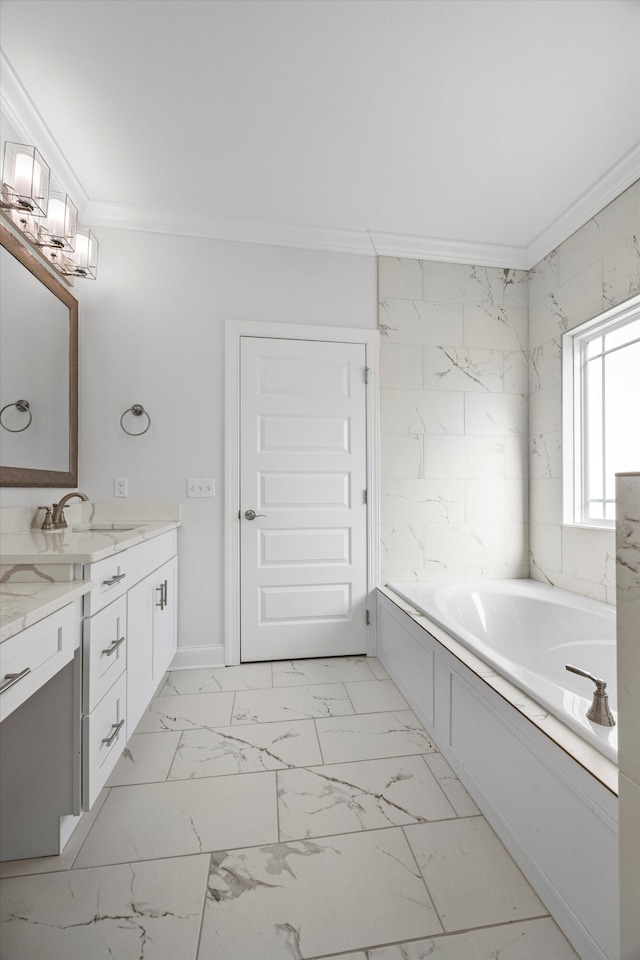
[[[153,609],[157,571],[127,594],[127,726],[133,733],[153,695]]]

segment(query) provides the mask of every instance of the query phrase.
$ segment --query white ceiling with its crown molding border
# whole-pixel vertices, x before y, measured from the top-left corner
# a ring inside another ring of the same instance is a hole
[[[640,175],[638,0],[0,11],[5,112],[94,224],[525,265]]]

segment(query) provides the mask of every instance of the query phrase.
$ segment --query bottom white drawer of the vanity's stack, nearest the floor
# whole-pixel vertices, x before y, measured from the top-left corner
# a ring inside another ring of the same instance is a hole
[[[82,806],[89,810],[127,742],[126,674],[82,718]]]

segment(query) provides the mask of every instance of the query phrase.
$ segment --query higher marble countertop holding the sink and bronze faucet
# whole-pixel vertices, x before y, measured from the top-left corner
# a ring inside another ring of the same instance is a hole
[[[93,563],[158,537],[179,520],[74,523],[62,530],[16,530],[0,535],[0,564]]]

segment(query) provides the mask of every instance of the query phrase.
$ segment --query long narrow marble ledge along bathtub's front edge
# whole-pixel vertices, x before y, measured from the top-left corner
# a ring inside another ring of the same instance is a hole
[[[519,687],[505,677],[501,677],[495,667],[481,660],[480,657],[468,650],[463,644],[442,630],[436,623],[423,613],[420,613],[406,600],[388,587],[378,587],[380,593],[391,600],[397,607],[406,613],[424,630],[427,630],[443,647],[446,647],[458,660],[461,660],[470,670],[492,687],[496,693],[504,697],[513,707],[525,716],[538,729],[542,730],[551,740],[558,744],[574,760],[589,771],[612,793],[618,793],[618,768],[607,757],[604,757],[595,747],[586,743],[577,733],[570,730],[561,720],[552,716],[539,703],[527,696]]]

